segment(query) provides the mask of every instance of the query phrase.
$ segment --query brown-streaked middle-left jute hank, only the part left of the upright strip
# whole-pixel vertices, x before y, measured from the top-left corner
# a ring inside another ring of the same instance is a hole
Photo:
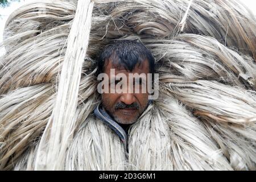
[[[52,111],[51,93],[51,84],[41,84],[15,90],[0,100],[1,168],[5,167],[10,156],[15,162],[30,142],[41,135]],[[29,136],[24,140],[27,134]]]

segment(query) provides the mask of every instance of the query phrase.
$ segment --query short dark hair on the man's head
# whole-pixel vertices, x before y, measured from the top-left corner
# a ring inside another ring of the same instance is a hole
[[[106,46],[98,60],[98,73],[104,71],[106,61],[112,58],[115,64],[123,66],[129,71],[133,71],[136,64],[141,64],[147,59],[150,73],[155,72],[155,60],[151,52],[142,44],[135,40],[116,40]]]

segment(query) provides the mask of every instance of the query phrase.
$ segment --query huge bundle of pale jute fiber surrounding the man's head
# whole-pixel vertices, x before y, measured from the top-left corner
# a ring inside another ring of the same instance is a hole
[[[256,21],[240,1],[37,1],[6,22],[0,169],[255,170]],[[97,59],[150,49],[159,98],[118,135],[93,115]]]

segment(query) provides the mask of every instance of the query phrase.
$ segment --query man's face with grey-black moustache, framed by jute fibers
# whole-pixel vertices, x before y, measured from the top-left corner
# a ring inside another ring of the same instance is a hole
[[[112,72],[110,72],[110,69],[112,69]],[[135,79],[131,79],[131,81],[129,79],[129,73],[137,73],[138,75],[144,73],[147,75],[149,70],[150,69],[147,60],[143,60],[140,65],[135,65],[135,68],[131,72],[127,71],[123,67],[119,67],[113,64],[111,59],[108,60],[107,64],[105,65],[104,73],[106,73],[109,77],[109,88],[111,83],[112,86],[117,86],[119,81],[113,80],[113,78],[118,77],[119,73],[125,74],[127,78],[127,82],[125,84],[126,86],[122,85],[122,90],[125,90],[126,92],[119,91],[119,93],[109,92],[102,94],[102,105],[104,106],[105,110],[108,111],[108,113],[115,119],[116,122],[121,124],[134,123],[146,109],[148,103],[148,92],[147,90],[146,92],[142,92],[142,87],[147,88],[147,77],[144,79],[141,78],[139,81],[135,81]],[[135,89],[137,89],[136,93]],[[133,92],[131,92],[131,90],[133,90]]]

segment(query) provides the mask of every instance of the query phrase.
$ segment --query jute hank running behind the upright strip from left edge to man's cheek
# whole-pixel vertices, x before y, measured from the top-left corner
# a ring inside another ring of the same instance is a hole
[[[92,72],[93,73],[93,72]],[[96,82],[94,76],[82,77],[79,90],[79,106],[77,107],[77,122],[82,122],[88,116],[95,104],[97,104]],[[30,146],[33,140],[40,141],[40,136],[52,113],[52,107],[56,99],[55,89],[51,84],[40,84],[17,89],[0,99],[0,113],[2,125],[1,133],[1,165],[5,165],[11,157],[12,162],[20,157],[20,154]],[[11,100],[11,101],[10,101]],[[39,111],[39,112],[38,112]],[[79,123],[78,123],[79,125]],[[19,148],[18,142],[24,134],[31,133],[23,143],[25,148]],[[5,142],[3,142],[5,141]],[[16,148],[16,151],[10,151]],[[3,162],[6,160],[6,162]],[[10,163],[9,167],[13,166]]]

